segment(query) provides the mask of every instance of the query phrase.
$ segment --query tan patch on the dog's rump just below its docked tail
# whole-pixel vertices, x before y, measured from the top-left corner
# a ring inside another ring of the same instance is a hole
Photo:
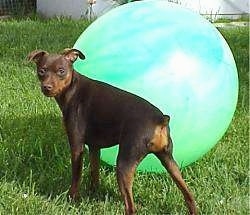
[[[162,151],[168,145],[168,136],[166,126],[157,125],[154,130],[153,138],[148,144],[148,149],[151,152]]]

